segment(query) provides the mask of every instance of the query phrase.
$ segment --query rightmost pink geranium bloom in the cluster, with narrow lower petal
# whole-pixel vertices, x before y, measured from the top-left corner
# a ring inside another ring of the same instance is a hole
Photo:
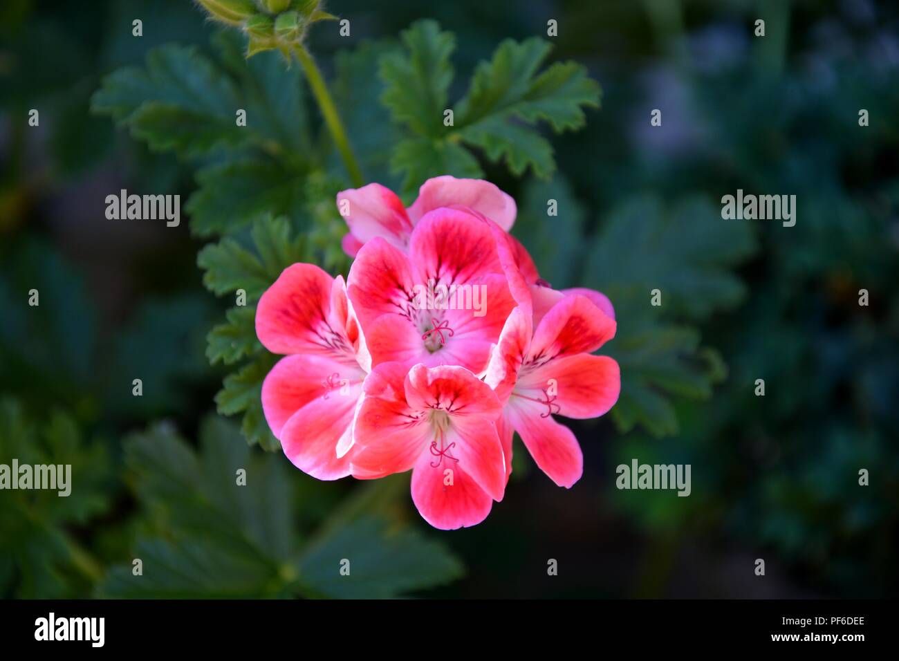
[[[597,417],[618,400],[618,363],[591,353],[615,335],[615,321],[581,294],[547,296],[556,303],[540,315],[533,335],[527,306],[512,311],[485,381],[503,403],[499,429],[507,470],[514,430],[539,468],[558,486],[571,487],[581,478],[583,454],[574,433],[553,415]]]

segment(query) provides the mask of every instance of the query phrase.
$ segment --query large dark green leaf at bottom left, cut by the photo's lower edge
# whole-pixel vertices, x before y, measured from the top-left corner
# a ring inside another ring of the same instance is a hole
[[[461,574],[441,544],[388,530],[364,513],[334,518],[304,545],[294,525],[301,492],[293,487],[306,478],[282,455],[251,451],[233,424],[216,417],[201,425],[199,446],[192,450],[169,425],[125,442],[138,503],[150,514],[129,555],[141,559],[142,574],[134,576],[130,563],[113,567],[101,596],[376,598]],[[340,576],[342,558],[351,558],[350,576]]]

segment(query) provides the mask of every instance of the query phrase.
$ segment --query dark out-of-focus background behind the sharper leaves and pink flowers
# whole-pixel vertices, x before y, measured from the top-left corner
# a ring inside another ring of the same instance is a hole
[[[338,49],[396,40],[420,18],[440,21],[458,41],[451,98],[501,40],[545,35],[555,18],[552,58],[589,68],[603,89],[601,110],[588,112],[584,130],[552,138],[552,183],[484,162],[486,176],[522,209],[528,195],[538,207],[546,199],[540,185],[567,194],[571,211],[558,227],[547,232],[522,214],[513,233],[554,286],[610,294],[616,342],[628,300],[645,305],[655,281],[672,284],[680,303],[663,308],[663,321],[686,339],[664,326],[643,351],[663,361],[664,343],[693,343],[678,364],[710,362],[716,371],[708,393],[673,375],[633,429],[611,416],[572,422],[585,466],[571,490],[555,487],[518,445],[503,503],[473,529],[431,531],[399,488],[391,520],[440,540],[466,567],[449,585],[414,594],[895,595],[899,7],[334,0],[328,9],[351,19],[352,37],[311,31],[326,76]],[[131,37],[133,17],[144,22],[141,39]],[[759,17],[763,40],[752,35]],[[227,370],[209,366],[204,338],[224,308],[201,283],[196,254],[205,241],[191,237],[186,213],[177,229],[103,215],[105,196],[122,187],[186,200],[194,166],[150,152],[89,108],[102,76],[139,66],[160,44],[207,49],[215,31],[195,6],[174,0],[7,0],[0,9],[0,392],[37,428],[65,415],[73,434],[91,439],[78,455],[97,498],[38,526],[40,514],[14,514],[3,500],[10,495],[0,494],[4,596],[103,594],[109,567],[127,566],[136,540],[156,525],[121,439],[160,420],[193,439],[215,410]],[[32,107],[40,130],[27,127]],[[650,126],[654,108],[663,110],[662,127]],[[870,112],[867,128],[858,125],[860,108]],[[365,135],[351,129],[352,140],[387,130],[363,126]],[[386,163],[367,174],[398,188]],[[744,235],[681,247],[696,232],[681,202],[707,200],[717,213],[720,197],[737,188],[796,194],[797,226],[744,221]],[[683,226],[645,243],[610,230],[635,214]],[[710,290],[712,280],[725,292]],[[24,303],[32,282],[40,283],[40,317]],[[862,288],[867,308],[858,304]],[[706,300],[717,302],[705,309]],[[619,350],[608,347],[616,357]],[[634,372],[619,360],[627,382]],[[135,373],[157,386],[139,400],[130,397]],[[759,378],[765,397],[753,395]],[[330,504],[355,487],[319,485],[280,454],[268,457],[287,467],[298,529],[326,523]],[[617,490],[615,467],[632,458],[690,463],[692,495]],[[859,469],[870,471],[870,486],[859,487]],[[558,576],[547,576],[548,558]],[[754,575],[755,558],[765,559],[766,576]]]

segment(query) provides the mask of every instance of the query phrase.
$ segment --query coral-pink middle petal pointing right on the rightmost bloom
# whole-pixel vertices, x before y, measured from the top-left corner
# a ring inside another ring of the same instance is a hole
[[[619,365],[609,356],[575,353],[521,371],[515,392],[543,401],[547,400],[547,394],[551,395],[553,413],[557,415],[598,417],[618,401]]]

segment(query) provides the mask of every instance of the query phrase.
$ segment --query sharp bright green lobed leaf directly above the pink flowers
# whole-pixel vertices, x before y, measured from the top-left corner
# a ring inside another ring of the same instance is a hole
[[[456,104],[454,124],[443,124],[453,69],[455,39],[433,21],[416,22],[403,33],[404,49],[381,58],[387,88],[381,102],[393,120],[412,135],[396,145],[391,165],[405,174],[403,191],[412,192],[435,174],[481,176],[467,147],[483,149],[512,174],[530,167],[548,178],[556,169],[553,150],[540,135],[546,121],[556,133],[583,127],[584,107],[598,107],[600,86],[573,62],[540,71],[551,49],[537,38],[505,40],[494,58],[476,68],[467,94]]]

